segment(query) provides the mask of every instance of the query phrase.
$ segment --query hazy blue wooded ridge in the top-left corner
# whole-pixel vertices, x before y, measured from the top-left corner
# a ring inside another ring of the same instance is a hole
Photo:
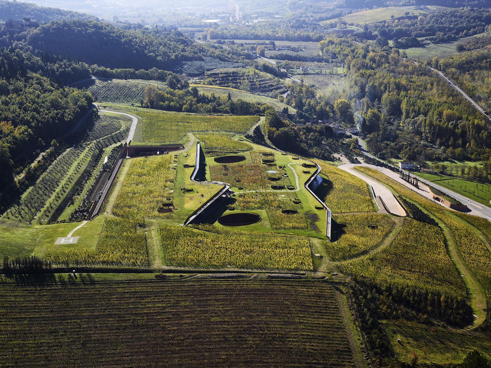
[[[0,20],[23,19],[39,23],[48,23],[51,21],[61,21],[63,19],[82,19],[82,20],[99,20],[98,18],[77,11],[62,10],[46,6],[38,6],[30,2],[21,1],[0,1]]]

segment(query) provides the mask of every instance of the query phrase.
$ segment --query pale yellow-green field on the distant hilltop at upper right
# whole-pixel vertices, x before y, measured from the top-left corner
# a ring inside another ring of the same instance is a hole
[[[403,17],[405,13],[409,11],[409,15],[426,15],[437,10],[446,9],[443,6],[429,5],[425,6],[425,10],[416,9],[415,6],[389,6],[385,8],[369,9],[358,11],[344,17],[340,20],[349,24],[365,24],[365,23],[377,23],[390,19],[391,15],[394,17]],[[333,20],[324,21],[325,23],[332,23]],[[323,23],[323,22],[321,22]]]

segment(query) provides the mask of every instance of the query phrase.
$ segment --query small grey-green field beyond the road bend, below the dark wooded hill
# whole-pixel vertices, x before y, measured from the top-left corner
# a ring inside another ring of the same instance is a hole
[[[124,105],[140,106],[143,100],[143,91],[147,85],[158,86],[159,89],[167,88],[160,81],[126,80],[98,78],[84,81],[74,86],[86,88],[98,102],[112,102]]]

